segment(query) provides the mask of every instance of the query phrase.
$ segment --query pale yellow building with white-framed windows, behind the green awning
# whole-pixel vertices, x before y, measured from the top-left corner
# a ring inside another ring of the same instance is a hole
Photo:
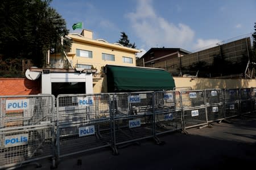
[[[72,40],[72,47],[63,54],[48,57],[50,68],[97,69],[93,75],[93,93],[106,92],[106,81],[102,74],[105,65],[136,66],[138,49],[123,47],[119,43],[108,43],[104,39],[93,39],[93,32],[82,30],[81,34],[65,36]]]

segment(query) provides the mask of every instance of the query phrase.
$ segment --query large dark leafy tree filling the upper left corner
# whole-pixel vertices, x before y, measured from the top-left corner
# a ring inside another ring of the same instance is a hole
[[[0,54],[3,59],[32,59],[43,67],[46,51],[61,51],[61,36],[68,35],[65,20],[49,7],[51,1],[2,0]],[[65,45],[71,42],[65,40]]]

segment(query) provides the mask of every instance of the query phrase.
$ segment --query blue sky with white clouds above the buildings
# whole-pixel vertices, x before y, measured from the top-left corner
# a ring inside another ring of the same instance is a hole
[[[115,43],[125,32],[138,49],[197,51],[254,32],[255,0],[53,0],[51,7],[72,25],[83,22],[93,39]],[[143,52],[141,53],[141,55]]]

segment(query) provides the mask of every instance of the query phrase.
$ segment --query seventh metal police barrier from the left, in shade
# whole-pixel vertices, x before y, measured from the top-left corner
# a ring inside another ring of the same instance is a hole
[[[240,114],[239,89],[224,89],[225,118]]]

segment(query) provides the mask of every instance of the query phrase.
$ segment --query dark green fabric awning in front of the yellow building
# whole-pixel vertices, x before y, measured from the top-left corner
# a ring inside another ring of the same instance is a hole
[[[172,90],[174,78],[163,69],[106,65],[108,92]]]

